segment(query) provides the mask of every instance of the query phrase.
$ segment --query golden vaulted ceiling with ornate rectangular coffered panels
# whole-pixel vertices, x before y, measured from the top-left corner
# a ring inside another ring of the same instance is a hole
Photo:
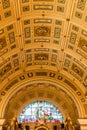
[[[41,78],[56,81],[76,95],[87,117],[87,0],[0,0],[1,103],[9,94],[12,96],[12,90],[15,94],[18,86],[31,80],[40,82]],[[49,89],[45,90],[44,83],[43,86],[45,98]],[[25,91],[21,91],[21,96],[10,97],[7,110],[12,109],[13,115],[16,101],[19,106],[31,101]],[[34,92],[34,99],[39,98],[38,91]],[[69,101],[69,94],[53,92],[63,100],[63,104],[57,105],[61,108],[70,104],[74,117],[76,106]],[[23,103],[22,94],[27,96]],[[67,108],[64,113],[70,115],[71,111]]]

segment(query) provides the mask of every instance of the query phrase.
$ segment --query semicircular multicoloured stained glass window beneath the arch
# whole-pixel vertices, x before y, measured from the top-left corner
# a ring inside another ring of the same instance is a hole
[[[23,108],[18,116],[19,123],[39,122],[43,118],[45,122],[63,122],[60,110],[48,101],[33,101]]]

